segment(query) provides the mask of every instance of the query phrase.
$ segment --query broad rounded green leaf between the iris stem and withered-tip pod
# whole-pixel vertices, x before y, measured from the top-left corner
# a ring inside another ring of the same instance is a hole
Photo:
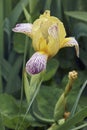
[[[39,121],[50,123],[54,120],[54,107],[61,92],[62,89],[56,86],[42,86],[32,107],[32,113]]]

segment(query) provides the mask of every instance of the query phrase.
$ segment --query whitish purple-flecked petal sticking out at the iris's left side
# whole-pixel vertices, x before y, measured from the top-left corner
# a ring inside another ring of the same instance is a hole
[[[12,29],[14,32],[24,33],[28,36],[32,33],[32,24],[31,23],[20,23]]]

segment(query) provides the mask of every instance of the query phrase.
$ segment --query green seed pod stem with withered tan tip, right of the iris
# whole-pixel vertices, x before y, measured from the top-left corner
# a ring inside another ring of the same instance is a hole
[[[54,109],[54,119],[56,122],[58,122],[59,119],[63,118],[64,112],[65,112],[65,106],[67,101],[67,95],[72,89],[72,85],[74,80],[77,78],[77,72],[71,71],[69,72],[69,80],[65,87],[65,90],[63,94],[60,96],[59,100],[56,103],[55,109]]]

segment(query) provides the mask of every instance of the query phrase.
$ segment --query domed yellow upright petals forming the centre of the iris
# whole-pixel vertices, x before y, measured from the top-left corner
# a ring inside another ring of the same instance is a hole
[[[34,49],[44,51],[49,57],[52,57],[60,49],[66,32],[63,23],[58,18],[50,16],[49,11],[45,11],[33,23],[32,35]]]

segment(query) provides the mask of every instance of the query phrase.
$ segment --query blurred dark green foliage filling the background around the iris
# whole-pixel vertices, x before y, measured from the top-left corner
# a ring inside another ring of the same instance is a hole
[[[77,39],[80,56],[76,57],[74,48],[64,48],[48,61],[31,114],[25,117],[27,103],[22,75],[34,50],[32,41],[23,34],[13,33],[12,28],[16,23],[33,23],[45,10],[64,23],[67,36]],[[87,106],[87,0],[0,0],[0,21],[0,130],[18,130],[19,124],[20,130],[46,130],[53,121],[55,103],[71,70],[78,71],[78,80],[69,95],[67,110],[71,111],[79,92],[77,111],[84,109]]]

